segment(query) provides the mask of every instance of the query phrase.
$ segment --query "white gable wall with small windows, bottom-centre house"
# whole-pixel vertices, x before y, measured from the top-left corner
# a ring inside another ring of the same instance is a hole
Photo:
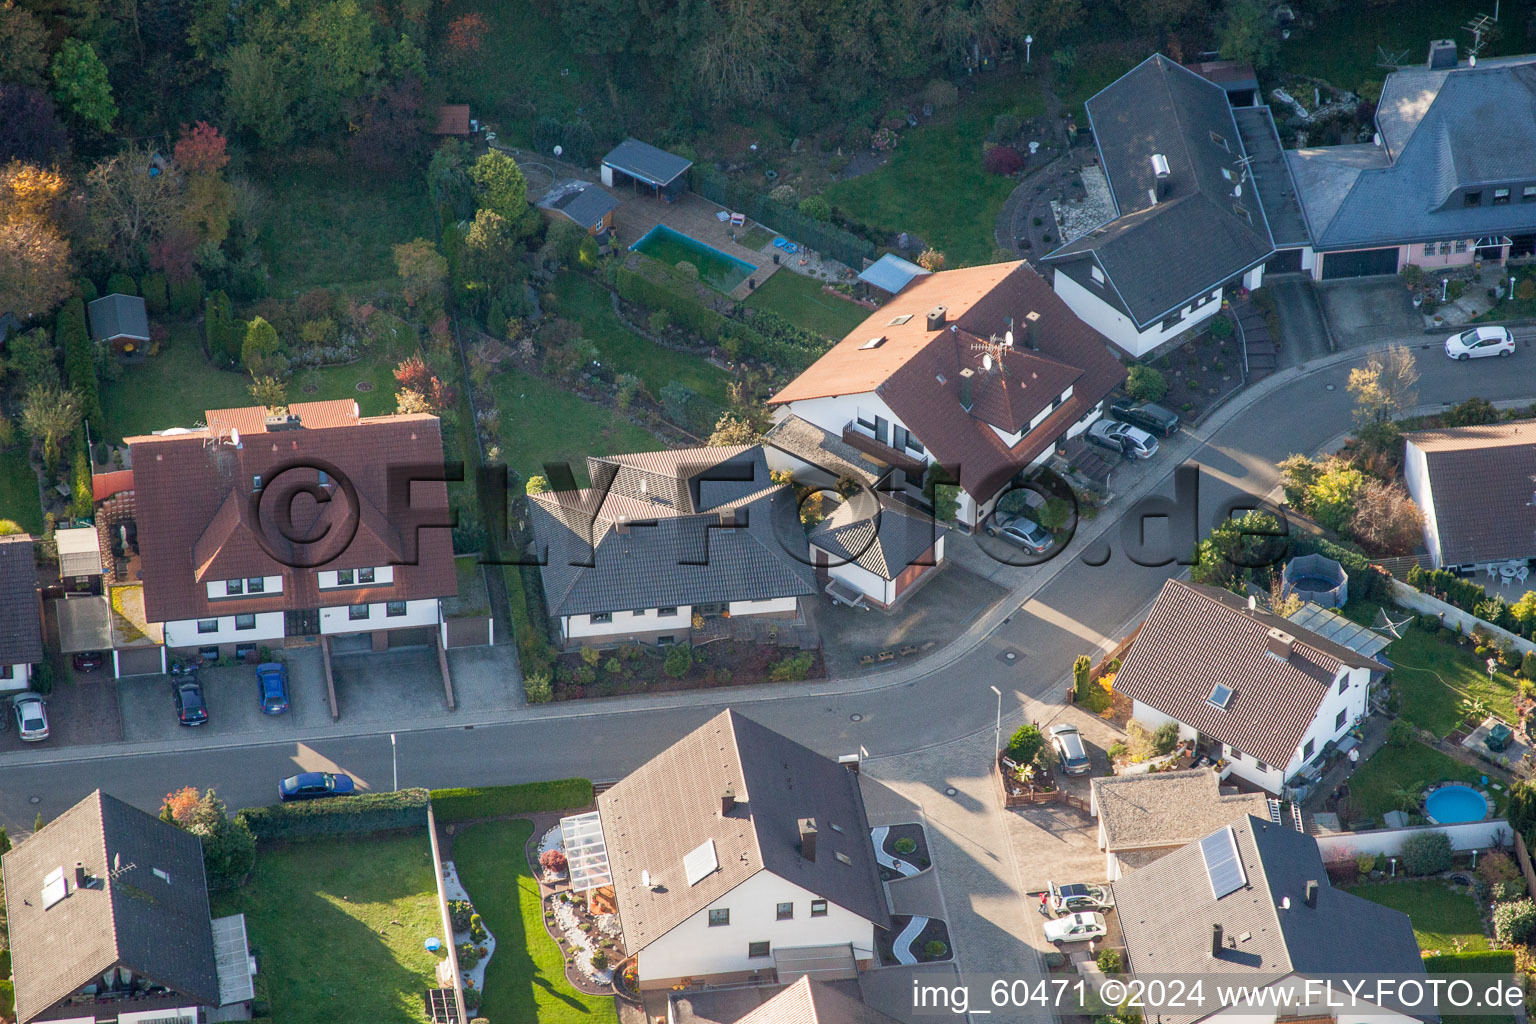
[[[826,857],[831,857],[826,851]],[[848,867],[852,870],[852,867]],[[874,924],[828,901],[826,917],[811,917],[813,894],[768,870],[731,889],[673,930],[641,949],[641,984],[647,979],[773,970],[773,950],[851,943],[854,956],[874,950]],[[780,903],[794,903],[794,918],[777,920]],[[710,927],[710,909],[728,909],[731,923]],[[748,943],[770,943],[768,956],[746,956]]]

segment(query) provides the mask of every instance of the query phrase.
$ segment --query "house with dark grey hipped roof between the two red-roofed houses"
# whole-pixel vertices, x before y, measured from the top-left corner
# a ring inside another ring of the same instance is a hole
[[[682,643],[694,617],[797,619],[816,593],[794,490],[760,445],[588,457],[591,487],[531,494],[564,643]]]

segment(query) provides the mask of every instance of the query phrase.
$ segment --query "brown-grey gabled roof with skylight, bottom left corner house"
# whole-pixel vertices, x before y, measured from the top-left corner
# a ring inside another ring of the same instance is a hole
[[[84,889],[75,863],[94,880]],[[58,867],[69,895],[45,907]],[[6,854],[3,872],[22,1024],[111,967],[218,1006],[203,844],[190,832],[98,789]]]

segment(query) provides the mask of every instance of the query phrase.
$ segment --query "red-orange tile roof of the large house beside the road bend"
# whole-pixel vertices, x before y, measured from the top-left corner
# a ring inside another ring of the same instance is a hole
[[[926,316],[937,306],[945,307],[946,322],[931,332]],[[902,316],[911,319],[892,322]],[[1009,329],[1011,350],[991,344]],[[880,336],[880,345],[865,347]],[[974,375],[969,410],[960,404],[966,368]],[[1005,263],[914,281],[773,402],[874,391],[940,464],[958,467],[966,491],[986,499],[1124,378],[1104,338],[1040,275],[1026,263]],[[1068,387],[1072,398],[1028,430]],[[1026,433],[1011,447],[992,427]]]

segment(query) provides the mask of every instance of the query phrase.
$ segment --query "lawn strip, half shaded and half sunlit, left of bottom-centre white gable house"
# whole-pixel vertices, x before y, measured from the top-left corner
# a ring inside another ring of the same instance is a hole
[[[538,1024],[614,1024],[613,996],[578,992],[565,979],[565,956],[544,930],[539,883],[524,844],[533,824],[488,821],[453,837],[453,866],[475,910],[496,936],[485,964],[485,996],[475,1016]]]

